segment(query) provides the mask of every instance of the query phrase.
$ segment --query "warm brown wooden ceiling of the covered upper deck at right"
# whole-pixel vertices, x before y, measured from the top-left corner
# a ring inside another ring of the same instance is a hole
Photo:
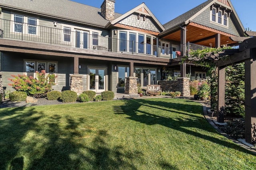
[[[234,37],[234,35],[206,27],[204,25],[191,22],[187,25],[186,29],[186,41],[189,41],[190,43],[208,47],[212,44],[212,47],[215,47],[215,35],[220,33],[220,45],[227,44],[232,46],[238,44],[236,41],[232,41],[230,39],[230,37]],[[165,35],[163,38],[180,41],[180,29]]]

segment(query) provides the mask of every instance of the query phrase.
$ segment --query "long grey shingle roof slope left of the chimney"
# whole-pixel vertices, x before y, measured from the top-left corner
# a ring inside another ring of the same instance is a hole
[[[0,6],[12,7],[102,27],[109,22],[101,16],[100,8],[70,0],[0,0]],[[121,15],[115,13],[115,18]]]

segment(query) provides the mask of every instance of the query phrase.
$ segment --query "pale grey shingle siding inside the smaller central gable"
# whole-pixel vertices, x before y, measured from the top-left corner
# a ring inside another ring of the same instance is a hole
[[[156,27],[156,25],[152,22],[150,17],[146,17],[146,20],[143,19],[144,15],[140,16],[138,20],[138,15],[131,14],[130,16],[124,18],[120,21],[120,24],[129,25],[131,27],[146,29],[150,31],[160,32],[161,30]]]

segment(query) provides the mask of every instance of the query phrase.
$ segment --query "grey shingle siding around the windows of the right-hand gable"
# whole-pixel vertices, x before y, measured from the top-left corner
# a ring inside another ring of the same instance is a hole
[[[192,20],[192,22],[205,25],[207,27],[211,27],[213,29],[217,29],[226,33],[230,33],[232,35],[240,36],[238,31],[236,31],[236,27],[231,19],[231,17],[228,18],[228,27],[224,25],[220,25],[218,23],[213,23],[210,21],[210,8],[206,9],[204,12],[199,14],[196,18]]]

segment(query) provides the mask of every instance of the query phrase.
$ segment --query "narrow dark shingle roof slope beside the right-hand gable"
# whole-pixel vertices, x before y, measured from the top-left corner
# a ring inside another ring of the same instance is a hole
[[[210,2],[212,2],[214,0],[208,0],[202,4],[200,4],[199,6],[193,8],[192,10],[189,10],[188,12],[178,16],[177,18],[174,18],[173,20],[165,23],[163,26],[164,28],[170,29],[176,25],[179,25],[181,23],[183,23],[184,21],[187,21],[188,19],[190,19],[192,16],[194,16],[197,12],[199,12],[200,10],[202,10],[205,6],[207,6]]]

